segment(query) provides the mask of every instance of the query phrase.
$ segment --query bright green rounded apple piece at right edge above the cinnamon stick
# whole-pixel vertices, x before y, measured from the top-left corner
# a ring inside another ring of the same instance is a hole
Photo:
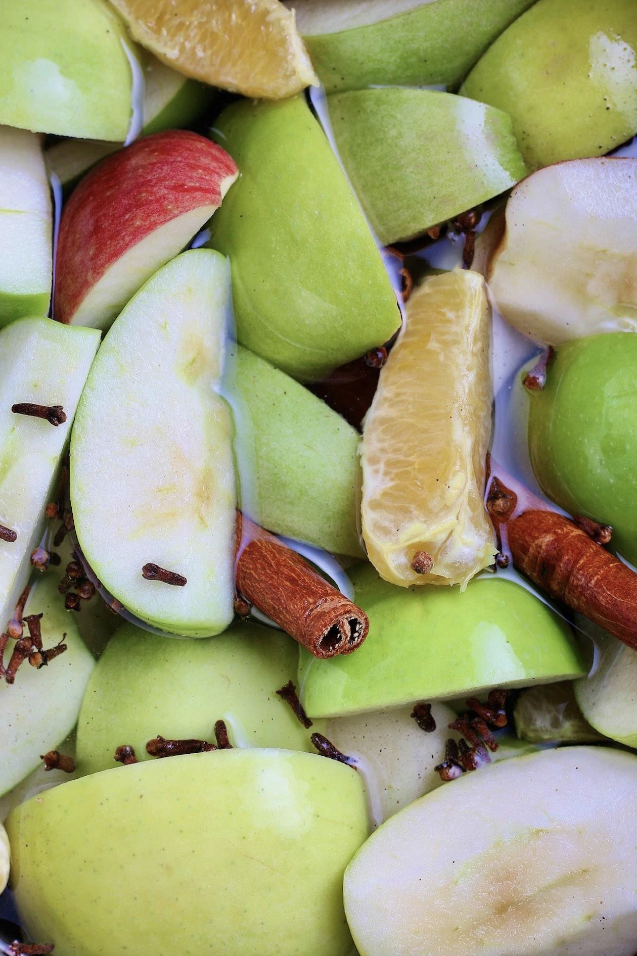
[[[561,345],[531,394],[529,451],[539,485],[571,514],[613,527],[637,563],[637,336],[610,332]]]

